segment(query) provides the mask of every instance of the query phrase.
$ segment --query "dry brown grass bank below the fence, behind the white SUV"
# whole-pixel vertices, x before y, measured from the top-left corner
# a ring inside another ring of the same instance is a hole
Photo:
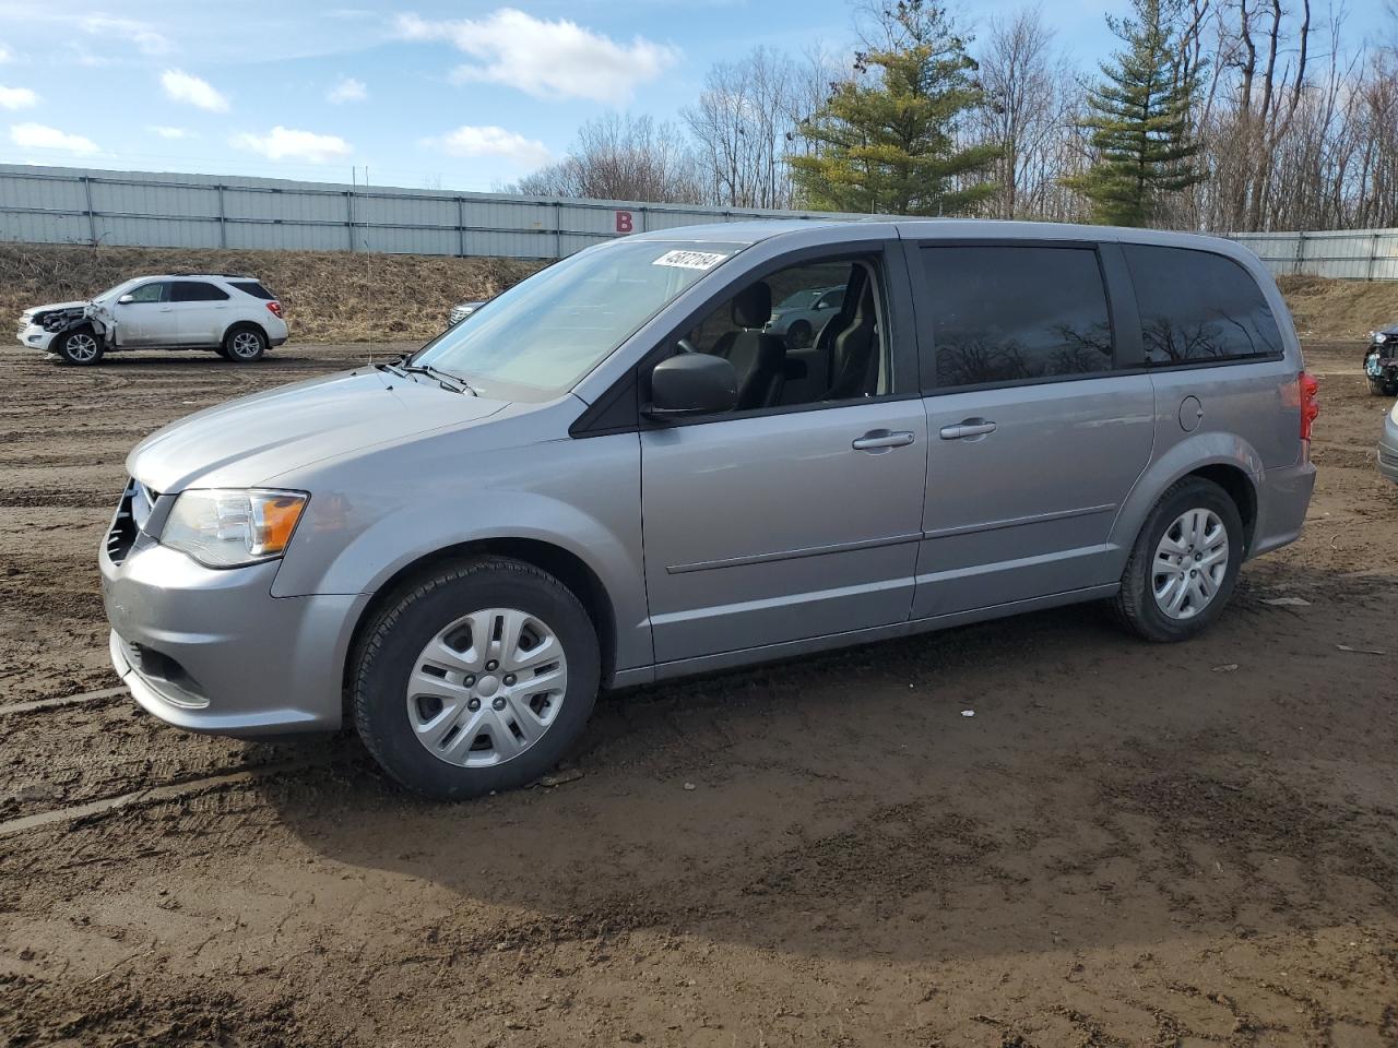
[[[0,316],[147,272],[249,272],[281,299],[296,340],[428,338],[457,302],[499,295],[535,268],[512,259],[0,243]]]

